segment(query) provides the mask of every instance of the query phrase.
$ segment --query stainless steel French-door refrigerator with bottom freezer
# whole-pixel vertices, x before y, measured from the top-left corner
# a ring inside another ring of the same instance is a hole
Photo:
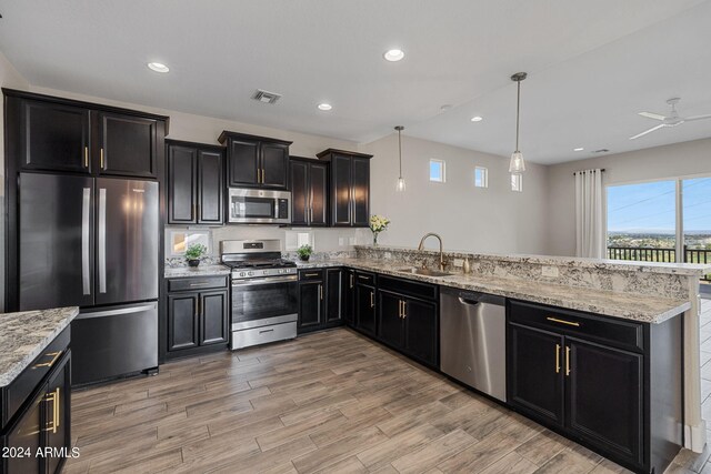
[[[158,367],[154,181],[20,173],[20,311],[80,306],[72,385]]]

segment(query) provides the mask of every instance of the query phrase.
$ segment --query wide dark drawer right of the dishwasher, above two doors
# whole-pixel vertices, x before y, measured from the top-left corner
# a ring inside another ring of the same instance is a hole
[[[637,351],[644,350],[643,324],[509,300],[509,321]]]

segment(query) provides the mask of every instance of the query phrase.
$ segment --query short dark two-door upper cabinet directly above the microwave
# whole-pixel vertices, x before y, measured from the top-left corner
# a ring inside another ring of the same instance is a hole
[[[223,131],[218,141],[227,147],[229,188],[289,188],[290,141]]]

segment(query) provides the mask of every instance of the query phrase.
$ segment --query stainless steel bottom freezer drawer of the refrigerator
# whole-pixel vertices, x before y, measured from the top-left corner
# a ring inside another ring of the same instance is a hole
[[[72,385],[158,367],[158,303],[91,309],[71,322]]]

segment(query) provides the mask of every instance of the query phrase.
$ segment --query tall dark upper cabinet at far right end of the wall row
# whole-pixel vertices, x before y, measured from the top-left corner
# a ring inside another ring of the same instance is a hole
[[[367,228],[370,222],[370,159],[372,154],[328,149],[317,154],[330,163],[331,225]]]

